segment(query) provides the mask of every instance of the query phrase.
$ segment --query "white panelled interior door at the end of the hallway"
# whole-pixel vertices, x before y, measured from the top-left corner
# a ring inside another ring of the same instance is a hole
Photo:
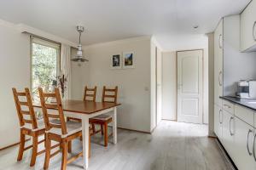
[[[177,122],[202,123],[202,52],[177,52]]]

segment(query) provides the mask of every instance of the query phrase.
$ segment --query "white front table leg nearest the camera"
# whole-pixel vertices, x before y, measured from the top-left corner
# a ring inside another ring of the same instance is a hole
[[[82,116],[84,169],[89,167],[89,117]]]

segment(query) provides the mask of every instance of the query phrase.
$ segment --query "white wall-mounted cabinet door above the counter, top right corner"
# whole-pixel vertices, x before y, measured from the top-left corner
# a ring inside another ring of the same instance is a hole
[[[241,13],[241,51],[256,45],[256,0]]]

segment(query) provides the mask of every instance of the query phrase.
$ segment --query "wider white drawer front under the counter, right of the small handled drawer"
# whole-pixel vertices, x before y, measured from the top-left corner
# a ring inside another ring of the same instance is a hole
[[[254,125],[254,113],[253,110],[247,109],[240,105],[235,105],[235,116],[242,121],[247,122],[249,125]]]

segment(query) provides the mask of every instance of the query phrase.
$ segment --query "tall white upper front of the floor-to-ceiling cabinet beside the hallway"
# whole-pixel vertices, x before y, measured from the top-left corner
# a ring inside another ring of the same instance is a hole
[[[221,106],[223,95],[223,20],[214,31],[214,103]]]

